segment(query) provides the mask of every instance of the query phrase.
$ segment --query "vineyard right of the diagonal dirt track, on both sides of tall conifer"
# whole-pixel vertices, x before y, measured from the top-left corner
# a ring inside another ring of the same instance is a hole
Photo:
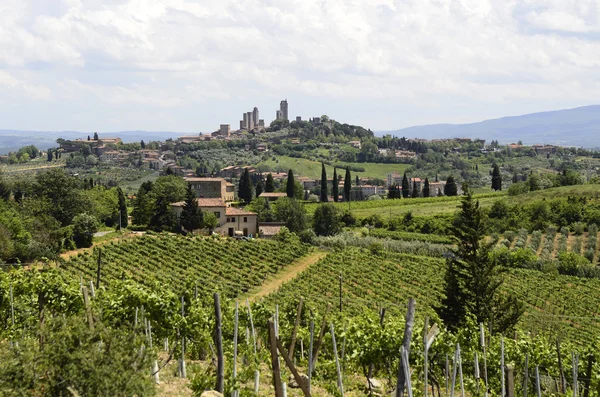
[[[409,297],[416,298],[421,314],[434,315],[443,296],[444,260],[406,254],[372,255],[346,248],[332,253],[296,279],[283,285],[266,302],[297,301],[301,296],[316,307],[339,306],[349,315],[385,307],[402,314]],[[600,280],[513,269],[504,290],[526,306],[520,329],[547,334],[580,345],[595,343],[600,334]]]

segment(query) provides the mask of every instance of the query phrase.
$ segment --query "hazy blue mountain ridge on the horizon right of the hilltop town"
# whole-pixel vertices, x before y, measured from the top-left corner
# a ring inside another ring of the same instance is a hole
[[[575,109],[502,117],[470,124],[432,124],[377,131],[406,138],[481,138],[500,143],[523,141],[526,145],[553,144],[586,148],[600,147],[600,105]]]

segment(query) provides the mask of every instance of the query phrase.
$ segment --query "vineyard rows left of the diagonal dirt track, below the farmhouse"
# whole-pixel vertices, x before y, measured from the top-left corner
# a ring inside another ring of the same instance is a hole
[[[104,282],[131,279],[144,286],[180,292],[186,284],[198,291],[236,296],[308,253],[308,246],[277,241],[238,242],[221,238],[147,235],[105,245],[101,253]],[[95,280],[98,252],[81,253],[61,266],[64,273]]]

